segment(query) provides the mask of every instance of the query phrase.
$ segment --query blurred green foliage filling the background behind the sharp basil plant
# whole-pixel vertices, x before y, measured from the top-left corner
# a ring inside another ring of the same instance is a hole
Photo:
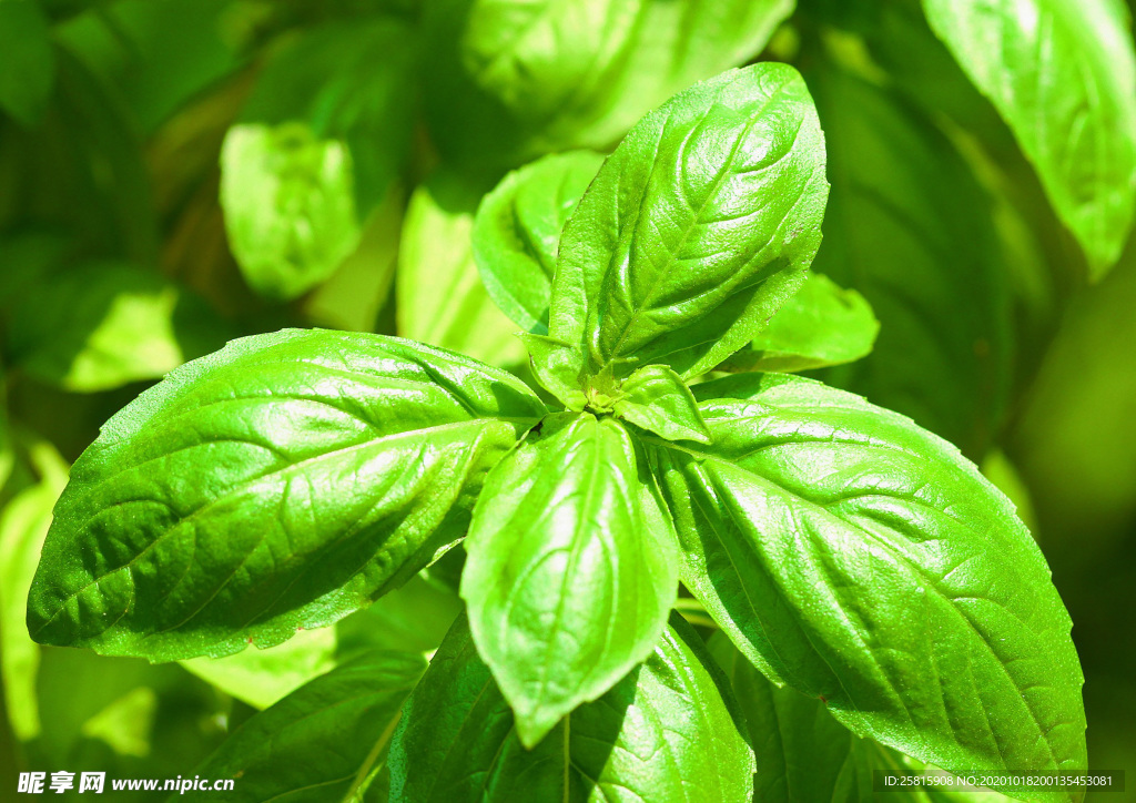
[[[1091,767],[1129,771],[1102,800],[1136,800],[1136,245],[1089,281],[1108,266],[910,0],[0,0],[0,789],[192,775],[344,658],[433,650],[448,561],[334,628],[182,664],[40,647],[24,604],[99,425],[232,337],[375,331],[524,371],[470,249],[482,196],[755,58],[809,82],[815,267],[880,323],[816,374],[1016,500],[1075,621]]]

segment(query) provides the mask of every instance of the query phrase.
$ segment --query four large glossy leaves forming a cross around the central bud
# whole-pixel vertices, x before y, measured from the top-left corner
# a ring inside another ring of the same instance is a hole
[[[177,369],[76,462],[32,635],[152,660],[270,646],[468,529],[471,633],[527,746],[646,659],[682,579],[861,735],[958,772],[1083,770],[1068,614],[972,465],[818,383],[685,384],[803,281],[826,190],[791,68],[645,117],[568,221],[549,335],[527,337],[565,412],[378,335],[260,335]]]

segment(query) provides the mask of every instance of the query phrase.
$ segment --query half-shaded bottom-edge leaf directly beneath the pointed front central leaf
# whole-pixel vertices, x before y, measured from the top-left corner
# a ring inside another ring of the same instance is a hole
[[[533,750],[459,619],[391,745],[391,800],[750,801],[753,754],[720,670],[671,617],[641,667]]]

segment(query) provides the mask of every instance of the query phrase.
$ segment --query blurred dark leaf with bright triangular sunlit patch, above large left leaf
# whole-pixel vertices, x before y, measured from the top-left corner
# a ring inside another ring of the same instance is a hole
[[[44,276],[8,328],[16,365],[78,392],[157,379],[220,348],[229,332],[184,287],[112,262]]]

